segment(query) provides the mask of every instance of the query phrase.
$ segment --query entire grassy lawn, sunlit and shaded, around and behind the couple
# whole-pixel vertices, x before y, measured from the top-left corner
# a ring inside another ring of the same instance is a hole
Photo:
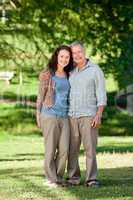
[[[37,80],[28,78],[21,87],[15,81],[11,85],[1,82],[1,99],[16,102],[0,104],[0,200],[132,200],[133,118],[119,112],[112,103],[115,87],[109,88],[112,93],[97,148],[101,187],[84,186],[85,157],[81,147],[82,185],[50,189],[43,186],[43,137],[35,124],[35,108],[23,104],[25,98],[35,100]]]

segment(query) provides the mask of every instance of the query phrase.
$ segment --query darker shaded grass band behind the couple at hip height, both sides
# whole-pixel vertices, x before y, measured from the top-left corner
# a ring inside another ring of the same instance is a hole
[[[104,136],[132,136],[133,118],[119,112],[115,107],[107,107],[103,115],[100,135]],[[0,132],[11,135],[40,135],[36,127],[35,109],[20,104],[0,105]]]

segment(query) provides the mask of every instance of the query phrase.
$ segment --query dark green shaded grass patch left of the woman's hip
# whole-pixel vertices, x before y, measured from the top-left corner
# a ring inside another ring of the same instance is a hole
[[[41,135],[36,126],[35,110],[23,105],[3,106],[0,115],[0,130],[13,135]]]

